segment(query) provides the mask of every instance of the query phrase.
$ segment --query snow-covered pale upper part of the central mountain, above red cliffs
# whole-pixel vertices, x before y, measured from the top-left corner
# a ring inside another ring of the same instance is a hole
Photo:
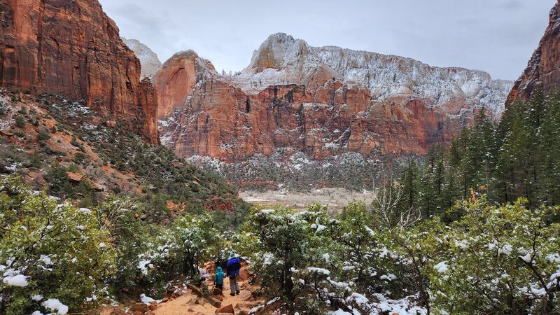
[[[429,66],[414,59],[335,46],[311,47],[301,39],[279,33],[269,36],[253,53],[251,64],[235,78],[248,92],[274,84],[321,84],[328,78],[360,83],[372,100],[423,99],[445,106],[451,114],[463,108],[486,107],[496,116],[512,81],[493,80],[483,71]]]

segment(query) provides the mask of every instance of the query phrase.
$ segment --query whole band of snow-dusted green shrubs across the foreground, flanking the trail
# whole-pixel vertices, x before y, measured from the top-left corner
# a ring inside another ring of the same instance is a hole
[[[209,214],[147,224],[130,198],[77,208],[9,176],[0,183],[0,311],[44,314],[45,301],[57,300],[74,312],[162,297],[173,279],[196,283],[197,267],[223,260],[224,249],[245,256],[262,292],[290,313],[560,311],[560,209],[528,209],[522,198],[497,207],[472,191],[449,209],[458,220],[446,223],[398,212],[395,192],[335,216],[319,204],[256,207],[239,232],[224,234]]]

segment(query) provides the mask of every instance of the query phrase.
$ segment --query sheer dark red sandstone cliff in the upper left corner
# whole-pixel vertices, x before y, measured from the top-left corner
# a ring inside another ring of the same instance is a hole
[[[158,143],[156,90],[96,0],[0,0],[0,85],[84,100]]]

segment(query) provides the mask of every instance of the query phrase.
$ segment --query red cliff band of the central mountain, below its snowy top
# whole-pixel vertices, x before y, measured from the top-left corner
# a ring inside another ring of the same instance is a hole
[[[193,76],[174,84],[186,85]],[[316,89],[274,85],[248,94],[231,78],[202,76],[172,107],[179,110],[162,123],[162,144],[183,158],[229,162],[279,150],[317,159],[346,152],[423,154],[436,141],[448,141],[462,123],[421,101],[372,103],[367,88],[332,79]]]

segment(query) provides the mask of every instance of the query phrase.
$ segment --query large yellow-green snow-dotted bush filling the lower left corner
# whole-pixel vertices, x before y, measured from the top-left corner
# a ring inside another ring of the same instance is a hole
[[[97,211],[0,179],[0,313],[66,314],[96,300],[115,250]]]

